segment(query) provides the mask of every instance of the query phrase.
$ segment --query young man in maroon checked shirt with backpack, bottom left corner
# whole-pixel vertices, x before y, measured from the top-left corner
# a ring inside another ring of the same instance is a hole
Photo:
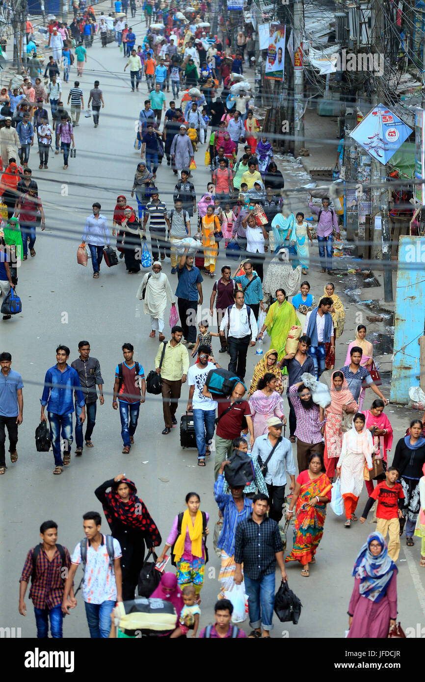
[[[71,568],[70,552],[66,547],[57,544],[57,523],[44,521],[40,526],[42,542],[31,548],[25,559],[20,576],[19,612],[27,615],[25,593],[31,578],[29,598],[33,602],[37,637],[48,637],[48,621],[50,635],[62,638],[62,599],[65,590],[65,579]],[[74,589],[70,584],[70,604],[75,606]]]

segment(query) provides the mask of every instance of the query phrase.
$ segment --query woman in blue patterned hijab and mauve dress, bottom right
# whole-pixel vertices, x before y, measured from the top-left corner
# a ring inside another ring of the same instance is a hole
[[[347,637],[387,638],[396,625],[397,572],[381,533],[370,533],[354,563]]]

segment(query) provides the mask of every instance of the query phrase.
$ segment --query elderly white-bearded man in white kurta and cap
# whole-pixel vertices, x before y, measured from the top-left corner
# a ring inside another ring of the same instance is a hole
[[[151,316],[152,331],[149,336],[153,338],[158,329],[160,332],[160,341],[164,341],[165,336],[162,331],[164,331],[164,314],[167,299],[170,303],[175,303],[175,295],[173,294],[173,291],[171,291],[168,277],[162,272],[162,265],[159,261],[153,263],[152,272],[145,274],[145,277],[138,288],[136,298],[143,299],[143,289],[145,289],[143,312]]]

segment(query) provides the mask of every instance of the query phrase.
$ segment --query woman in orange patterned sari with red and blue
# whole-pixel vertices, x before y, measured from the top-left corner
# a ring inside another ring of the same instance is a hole
[[[314,555],[322,539],[326,505],[331,501],[331,490],[332,483],[323,473],[322,456],[312,453],[308,469],[297,477],[287,512],[287,520],[291,520],[296,503],[293,549],[285,562],[299,561],[302,565],[301,575],[304,578],[310,575],[310,563],[316,563]]]

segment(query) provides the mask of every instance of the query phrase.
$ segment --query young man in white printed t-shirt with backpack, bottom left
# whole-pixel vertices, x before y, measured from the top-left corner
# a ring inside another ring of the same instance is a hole
[[[82,563],[83,578],[76,593],[83,584],[83,601],[91,638],[108,638],[111,612],[117,602],[122,602],[121,546],[115,537],[100,532],[101,524],[102,519],[97,511],[87,511],[83,515],[85,538],[78,542],[72,554],[62,599],[62,612],[69,614],[69,609],[76,606],[76,599],[72,599],[71,595],[72,582],[78,565]]]

